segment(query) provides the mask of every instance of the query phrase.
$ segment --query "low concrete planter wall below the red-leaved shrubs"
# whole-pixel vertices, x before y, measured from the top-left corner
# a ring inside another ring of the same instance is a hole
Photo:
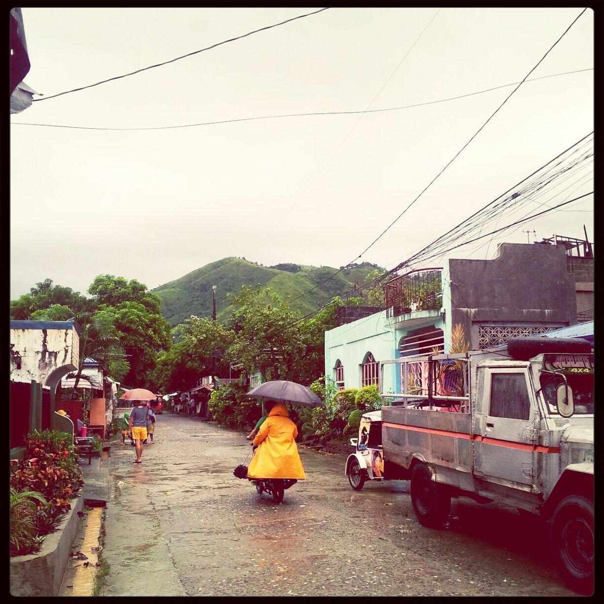
[[[78,512],[84,507],[83,497],[71,500],[67,513],[55,533],[47,535],[37,554],[10,559],[11,596],[57,596],[69,562],[71,545],[76,538]]]

